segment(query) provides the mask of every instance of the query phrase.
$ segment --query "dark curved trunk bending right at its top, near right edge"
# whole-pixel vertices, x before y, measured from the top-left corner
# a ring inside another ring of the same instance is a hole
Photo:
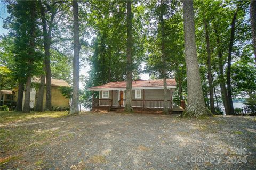
[[[232,92],[231,92],[231,57],[232,57],[232,50],[233,50],[233,42],[234,42],[234,36],[235,36],[235,25],[236,25],[236,16],[237,12],[234,13],[232,23],[231,23],[231,34],[230,34],[230,41],[229,41],[229,47],[228,47],[228,68],[227,68],[227,91],[228,91],[228,106],[229,106],[229,114],[234,115],[234,107],[233,107],[233,101],[232,101]]]

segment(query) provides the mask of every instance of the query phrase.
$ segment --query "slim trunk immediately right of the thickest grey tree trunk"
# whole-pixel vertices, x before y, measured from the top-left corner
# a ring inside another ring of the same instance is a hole
[[[213,114],[216,114],[215,106],[214,106],[214,97],[213,97],[210,40],[209,40],[209,32],[208,32],[208,23],[205,19],[204,19],[204,28],[205,28],[206,50],[207,50],[207,79],[209,82],[210,110]]]

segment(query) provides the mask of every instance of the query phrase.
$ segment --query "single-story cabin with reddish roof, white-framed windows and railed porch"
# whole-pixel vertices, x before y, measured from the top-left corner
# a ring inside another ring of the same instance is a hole
[[[172,111],[172,94],[176,88],[175,79],[167,79],[167,93],[169,110]],[[101,86],[89,88],[99,91],[99,98],[92,101],[93,109],[118,109],[125,107],[126,81],[110,82]],[[94,93],[93,93],[94,94]],[[162,110],[164,104],[164,81],[135,80],[132,81],[132,107],[142,110]]]

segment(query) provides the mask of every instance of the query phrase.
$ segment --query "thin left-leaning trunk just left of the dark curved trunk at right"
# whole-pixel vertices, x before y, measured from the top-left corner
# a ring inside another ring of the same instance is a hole
[[[218,30],[214,29],[215,36],[216,36],[216,42],[217,42],[217,50],[218,50],[218,66],[219,66],[219,83],[220,83],[220,90],[221,90],[221,97],[223,101],[223,105],[225,108],[225,113],[229,113],[229,106],[228,106],[228,93],[225,86],[225,78],[224,78],[224,71],[223,71],[223,61],[222,61],[222,52],[220,50],[220,39],[218,35]],[[223,115],[226,115],[223,114]]]

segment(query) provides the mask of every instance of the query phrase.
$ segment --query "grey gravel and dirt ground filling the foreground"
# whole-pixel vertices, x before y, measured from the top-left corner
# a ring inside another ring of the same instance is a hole
[[[4,122],[0,169],[256,169],[256,117],[176,116],[85,112]]]

